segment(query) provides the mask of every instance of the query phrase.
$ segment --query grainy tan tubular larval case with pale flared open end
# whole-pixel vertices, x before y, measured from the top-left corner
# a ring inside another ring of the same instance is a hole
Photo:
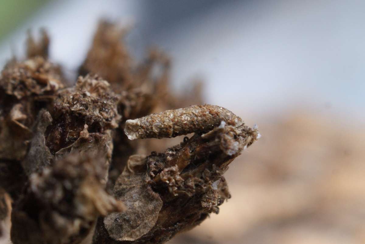
[[[172,138],[192,132],[211,131],[222,121],[237,129],[244,126],[240,117],[225,108],[215,105],[196,105],[127,120],[124,132],[130,140]]]

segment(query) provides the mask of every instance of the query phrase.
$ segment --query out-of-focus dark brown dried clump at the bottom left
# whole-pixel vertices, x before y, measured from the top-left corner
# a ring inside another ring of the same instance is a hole
[[[12,213],[12,242],[80,243],[98,216],[123,211],[104,190],[104,171],[96,158],[69,155],[32,174]]]

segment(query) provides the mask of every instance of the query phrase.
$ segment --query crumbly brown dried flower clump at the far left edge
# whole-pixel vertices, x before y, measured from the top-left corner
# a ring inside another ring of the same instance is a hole
[[[61,69],[41,57],[11,61],[0,78],[0,159],[26,155],[31,127],[42,107],[64,85]]]

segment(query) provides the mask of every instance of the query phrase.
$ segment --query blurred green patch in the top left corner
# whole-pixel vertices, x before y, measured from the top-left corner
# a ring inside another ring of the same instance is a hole
[[[49,0],[0,0],[0,40]]]

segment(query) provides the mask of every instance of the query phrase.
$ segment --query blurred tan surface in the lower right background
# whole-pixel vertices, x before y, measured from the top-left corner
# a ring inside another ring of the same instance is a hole
[[[364,131],[310,113],[267,121],[227,171],[232,198],[170,243],[365,243]]]

